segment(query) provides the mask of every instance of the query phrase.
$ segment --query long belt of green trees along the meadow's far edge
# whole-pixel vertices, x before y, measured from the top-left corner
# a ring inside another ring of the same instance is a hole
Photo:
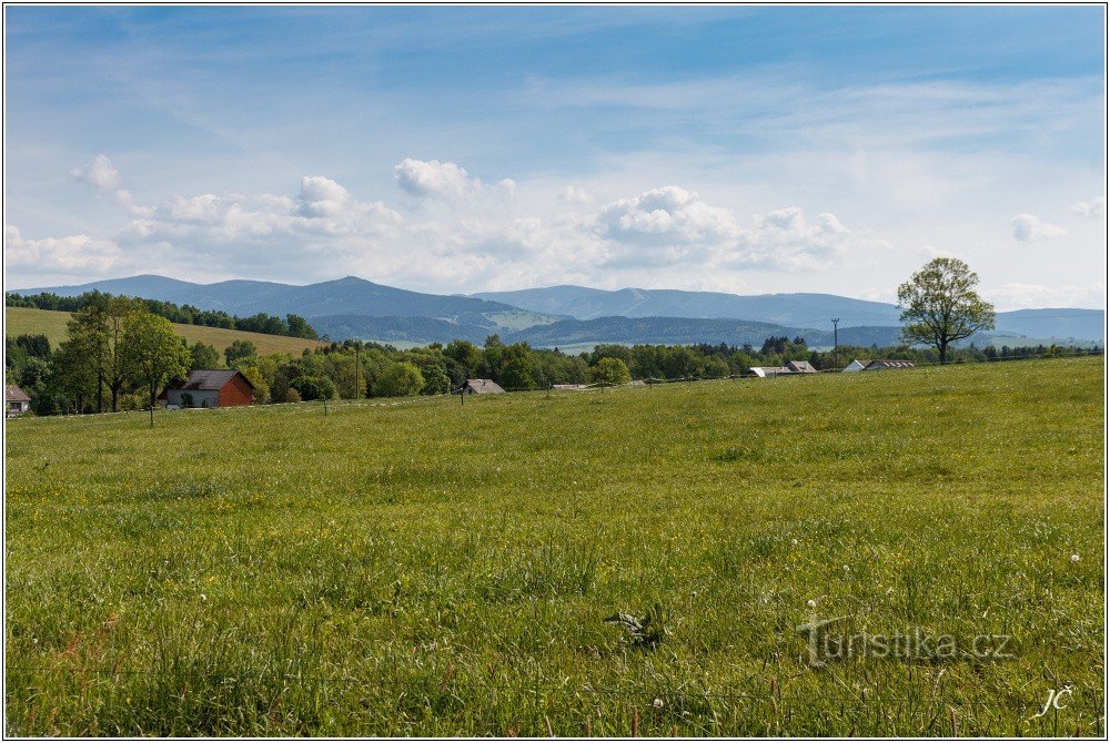
[[[505,344],[496,335],[478,346],[468,340],[401,350],[346,340],[301,355],[260,354],[250,340],[222,352],[189,345],[168,319],[123,297],[103,298],[74,313],[58,348],[43,335],[8,338],[8,378],[31,397],[37,415],[133,410],[152,405],[170,380],[188,369],[235,368],[254,386],[256,404],[443,395],[466,379],[493,379],[508,390],[552,385],[624,384],[630,379],[719,379],[743,376],[753,366],[807,360],[818,369],[841,369],[852,358],[902,358],[939,363],[936,348],[841,346],[811,349],[805,338],[770,337],[751,345],[597,345],[566,354],[557,348]],[[1090,352],[1077,347],[1029,346],[947,349],[948,363],[992,362]]]

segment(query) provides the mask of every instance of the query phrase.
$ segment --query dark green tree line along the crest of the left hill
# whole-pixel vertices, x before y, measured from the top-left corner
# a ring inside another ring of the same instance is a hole
[[[26,296],[11,293],[4,295],[4,304],[9,307],[30,307],[33,309],[53,309],[72,313],[84,309],[89,305],[112,298],[111,294],[97,289],[85,292],[75,297],[63,297],[50,292]],[[148,312],[164,317],[171,323],[204,325],[206,327],[222,327],[231,330],[266,333],[269,335],[284,335],[291,338],[320,339],[320,336],[309,325],[307,320],[300,315],[285,315],[285,319],[266,313],[258,313],[250,317],[238,317],[221,309],[199,309],[192,305],[175,305],[172,302],[162,302],[160,299],[138,298],[135,302],[141,302]]]

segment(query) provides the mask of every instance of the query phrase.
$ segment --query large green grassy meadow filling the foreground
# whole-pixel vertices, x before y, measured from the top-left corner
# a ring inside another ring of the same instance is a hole
[[[4,732],[1103,735],[1103,385],[10,421]]]

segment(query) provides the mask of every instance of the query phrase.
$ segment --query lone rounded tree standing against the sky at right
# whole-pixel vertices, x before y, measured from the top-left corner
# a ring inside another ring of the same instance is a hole
[[[995,327],[995,307],[975,291],[979,275],[959,258],[934,258],[898,287],[902,339],[926,343],[940,354],[948,346]]]

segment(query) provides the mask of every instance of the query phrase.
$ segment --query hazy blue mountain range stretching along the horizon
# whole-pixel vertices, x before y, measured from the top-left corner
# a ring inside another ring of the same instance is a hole
[[[552,286],[516,292],[442,295],[411,292],[347,276],[304,286],[275,282],[214,284],[143,275],[70,286],[16,289],[77,296],[111,294],[222,309],[233,315],[296,314],[335,339],[387,343],[481,343],[491,334],[535,346],[591,343],[728,343],[758,345],[770,335],[801,335],[811,346],[833,344],[830,318],[840,318],[840,342],[897,343],[900,312],[882,302],[834,294],[760,294]],[[1100,309],[1051,308],[998,313],[989,337],[1104,340]]]

